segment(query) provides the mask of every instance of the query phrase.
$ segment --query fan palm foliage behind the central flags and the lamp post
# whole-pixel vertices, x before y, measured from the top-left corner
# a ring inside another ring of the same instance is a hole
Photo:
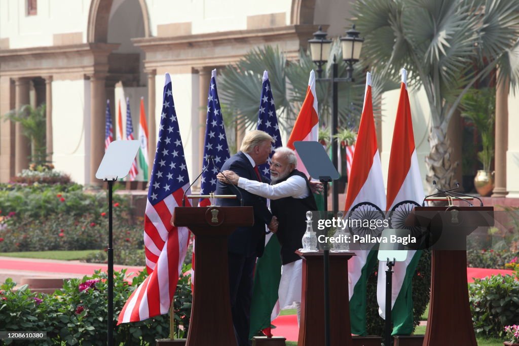
[[[323,66],[324,75],[330,72],[334,55],[338,62],[339,77],[346,77],[346,64],[342,60],[338,41],[332,45],[328,63]],[[298,61],[288,61],[277,47],[255,48],[245,54],[236,65],[228,66],[223,71],[218,91],[222,103],[228,106],[230,116],[238,119],[237,126],[253,128],[256,126],[260,105],[262,75],[263,71],[267,70],[280,127],[290,132],[305,99],[308,76],[313,68],[315,65],[305,51],[299,53]],[[365,71],[356,68],[353,77],[356,80],[354,83],[338,84],[339,128],[357,129],[359,126],[364,99]],[[381,85],[377,81],[378,79],[373,81],[374,100],[379,100],[381,92],[387,89],[386,85]],[[321,125],[329,125],[332,87],[329,82],[318,81],[316,89]]]

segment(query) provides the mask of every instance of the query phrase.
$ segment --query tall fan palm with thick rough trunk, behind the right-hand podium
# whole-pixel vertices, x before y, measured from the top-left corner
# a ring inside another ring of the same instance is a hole
[[[364,33],[362,57],[387,79],[402,67],[409,86],[424,87],[431,109],[427,181],[451,186],[447,127],[462,96],[499,66],[513,87],[519,2],[509,0],[357,0],[354,23]]]

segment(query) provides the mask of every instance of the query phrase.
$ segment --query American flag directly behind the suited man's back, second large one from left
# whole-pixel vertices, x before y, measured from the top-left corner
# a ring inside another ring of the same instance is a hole
[[[216,89],[216,69],[211,72],[211,82],[207,100],[206,141],[203,148],[202,169],[208,165],[209,167],[202,173],[200,184],[201,195],[209,195],[210,192],[216,190],[216,174],[218,174],[218,170],[213,166],[213,162],[209,160],[208,157],[214,156],[214,163],[218,169],[221,169],[224,162],[230,157],[222,118],[222,109]],[[209,204],[210,201],[208,198],[201,198],[198,203],[199,206],[208,206]]]

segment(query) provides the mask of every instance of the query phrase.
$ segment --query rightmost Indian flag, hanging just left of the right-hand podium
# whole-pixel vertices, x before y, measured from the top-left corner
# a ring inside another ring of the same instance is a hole
[[[424,187],[418,169],[406,80],[407,73],[402,69],[400,99],[389,157],[387,188],[388,211],[404,214],[410,212],[414,205],[420,205],[424,200]],[[394,224],[391,227],[404,228],[403,225]],[[421,251],[409,250],[405,261],[397,262],[393,267],[391,292],[393,335],[413,333],[412,279],[420,256]],[[378,264],[377,302],[378,313],[382,318],[385,318],[386,312],[386,270],[386,261],[380,261]]]

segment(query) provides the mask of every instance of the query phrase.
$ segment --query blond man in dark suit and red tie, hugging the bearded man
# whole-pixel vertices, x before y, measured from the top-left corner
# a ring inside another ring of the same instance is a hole
[[[258,182],[270,183],[260,174],[258,165],[267,161],[272,150],[272,137],[266,132],[254,130],[245,134],[240,151],[230,157],[222,166],[222,171],[233,171],[241,177]],[[254,225],[238,227],[229,236],[229,292],[231,312],[238,346],[249,346],[250,307],[252,283],[256,257],[263,255],[265,246],[265,225],[277,231],[277,218],[267,208],[265,198],[253,195],[240,188],[243,205],[251,205],[254,210]],[[216,195],[236,195],[236,190],[220,181],[216,183]],[[239,206],[239,199],[220,199],[219,205]]]

